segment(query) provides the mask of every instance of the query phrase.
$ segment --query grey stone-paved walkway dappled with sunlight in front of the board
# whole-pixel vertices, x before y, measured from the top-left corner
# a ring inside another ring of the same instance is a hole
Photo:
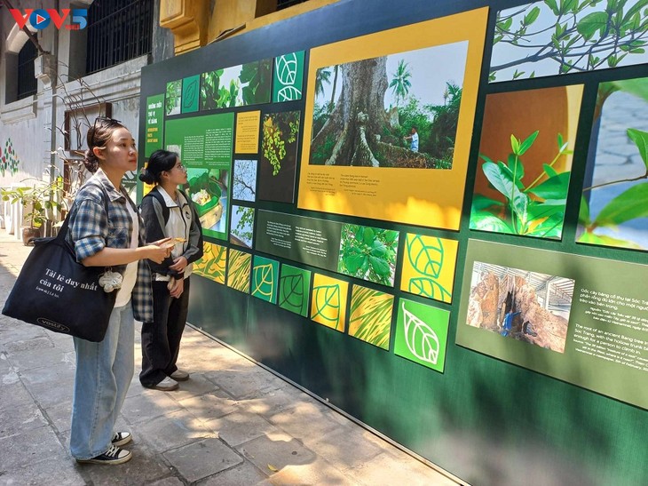
[[[0,229],[0,307],[30,249]],[[0,316],[0,485],[454,485],[231,349],[187,327],[175,392],[135,378],[118,421],[134,458],[77,465],[67,442],[72,339]]]

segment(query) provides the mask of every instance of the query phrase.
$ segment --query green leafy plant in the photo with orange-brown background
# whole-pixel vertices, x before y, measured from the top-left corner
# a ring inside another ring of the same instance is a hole
[[[491,185],[500,192],[506,203],[502,204],[484,195],[475,195],[470,213],[470,227],[497,233],[528,235],[541,238],[559,238],[563,219],[570,172],[558,173],[553,169],[558,157],[571,154],[568,143],[557,134],[557,155],[543,164],[543,171],[528,186],[522,179],[525,166],[521,156],[533,146],[538,136],[534,131],[527,139],[510,136],[511,153],[507,163],[496,163],[479,154],[486,162],[482,171]],[[542,179],[546,179],[540,183]]]

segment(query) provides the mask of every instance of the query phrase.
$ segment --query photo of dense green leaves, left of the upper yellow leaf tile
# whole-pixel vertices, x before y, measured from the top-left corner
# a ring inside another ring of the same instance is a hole
[[[383,285],[393,285],[399,232],[344,225],[337,270]]]

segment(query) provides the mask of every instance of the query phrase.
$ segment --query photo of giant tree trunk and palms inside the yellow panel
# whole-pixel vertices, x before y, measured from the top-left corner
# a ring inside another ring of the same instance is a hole
[[[450,169],[467,50],[464,41],[318,69],[310,163]]]

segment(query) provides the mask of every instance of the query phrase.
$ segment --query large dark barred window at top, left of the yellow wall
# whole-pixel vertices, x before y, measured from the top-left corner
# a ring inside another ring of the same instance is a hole
[[[153,0],[95,0],[88,9],[85,73],[151,52]]]

